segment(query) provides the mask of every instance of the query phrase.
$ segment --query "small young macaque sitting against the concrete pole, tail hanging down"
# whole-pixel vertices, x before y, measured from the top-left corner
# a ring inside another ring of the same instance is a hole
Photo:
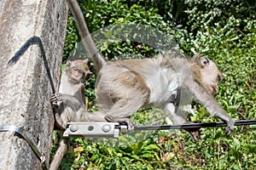
[[[59,93],[51,96],[51,103],[56,106],[55,123],[61,129],[67,127],[67,122],[88,122],[83,84],[83,80],[91,74],[87,62],[88,59],[67,60],[66,71],[61,75]],[[61,139],[50,163],[50,170],[56,170],[60,166],[67,150],[67,142],[68,139]]]

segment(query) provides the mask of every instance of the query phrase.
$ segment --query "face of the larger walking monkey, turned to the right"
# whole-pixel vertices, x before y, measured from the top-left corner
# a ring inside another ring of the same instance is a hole
[[[201,59],[201,81],[209,94],[218,92],[218,82],[223,79],[222,73],[210,59]]]

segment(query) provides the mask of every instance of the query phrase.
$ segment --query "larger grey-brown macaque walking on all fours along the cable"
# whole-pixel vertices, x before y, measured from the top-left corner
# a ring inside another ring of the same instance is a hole
[[[79,4],[76,0],[67,2],[79,33],[86,40],[82,41],[84,48],[92,55],[98,72],[96,97],[100,111],[91,114],[90,121],[125,122],[131,129],[136,123],[129,116],[144,105],[154,105],[163,109],[172,122],[187,123],[178,110],[178,96],[180,90],[184,89],[204,105],[212,116],[227,123],[227,135],[232,132],[234,121],[212,96],[218,89],[221,73],[210,59],[195,57],[189,60],[167,54],[158,59],[107,62],[90,37]]]

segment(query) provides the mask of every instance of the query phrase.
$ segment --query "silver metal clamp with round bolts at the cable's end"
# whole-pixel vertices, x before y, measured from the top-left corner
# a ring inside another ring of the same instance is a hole
[[[127,131],[127,126],[119,122],[68,122],[63,137],[118,138],[120,131]]]

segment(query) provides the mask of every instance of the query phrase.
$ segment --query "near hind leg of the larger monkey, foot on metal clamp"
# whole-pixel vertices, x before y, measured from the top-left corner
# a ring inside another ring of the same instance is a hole
[[[109,94],[113,105],[107,111],[105,119],[108,122],[124,122],[128,130],[137,126],[128,117],[148,100],[150,90],[143,77],[135,71],[125,71],[113,79]]]

